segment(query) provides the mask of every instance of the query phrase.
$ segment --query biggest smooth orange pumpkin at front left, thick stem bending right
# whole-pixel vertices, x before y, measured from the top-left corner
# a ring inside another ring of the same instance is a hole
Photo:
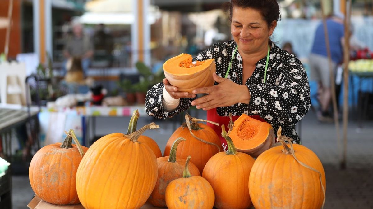
[[[76,173],[76,190],[86,209],[140,208],[157,181],[157,158],[137,139],[155,123],[130,135],[109,134],[84,155]]]

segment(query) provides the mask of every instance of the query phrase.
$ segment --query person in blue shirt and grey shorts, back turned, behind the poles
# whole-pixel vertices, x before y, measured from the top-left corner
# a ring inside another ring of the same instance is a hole
[[[330,43],[330,53],[332,57],[333,75],[336,74],[338,65],[343,61],[344,47],[344,17],[333,15],[326,20],[327,32]],[[326,51],[325,33],[323,23],[317,26],[314,42],[309,57],[311,79],[318,83],[319,111],[317,118],[322,122],[332,122],[329,112],[330,101],[332,99],[329,60]]]

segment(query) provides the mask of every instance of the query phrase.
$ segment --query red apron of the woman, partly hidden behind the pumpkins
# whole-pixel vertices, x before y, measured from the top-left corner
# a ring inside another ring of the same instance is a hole
[[[238,117],[239,116],[232,116],[233,122],[235,122],[235,120],[237,120]],[[258,116],[258,115],[253,115],[253,116],[250,116],[250,117],[254,118],[254,119],[257,119],[257,120],[260,120],[262,122],[266,122],[265,120],[260,118],[260,116]],[[221,125],[224,125],[225,130],[228,131],[228,123],[229,123],[229,120],[230,120],[229,117],[219,116],[216,112],[216,108],[214,108],[214,109],[207,110],[207,120],[219,123],[220,126],[217,126],[217,125],[214,125],[214,124],[211,124],[211,123],[207,123],[207,125],[210,126],[212,129],[214,129],[214,131],[216,132],[216,134],[220,138],[220,142],[223,145],[224,151],[226,151],[227,150],[227,142],[225,141],[225,138],[223,138],[223,136],[222,136]]]

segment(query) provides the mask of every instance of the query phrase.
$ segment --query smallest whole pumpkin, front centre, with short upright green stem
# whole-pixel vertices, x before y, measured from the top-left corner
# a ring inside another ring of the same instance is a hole
[[[211,209],[214,206],[214,190],[210,183],[200,176],[191,176],[185,163],[183,177],[171,181],[166,188],[166,205],[169,209]]]

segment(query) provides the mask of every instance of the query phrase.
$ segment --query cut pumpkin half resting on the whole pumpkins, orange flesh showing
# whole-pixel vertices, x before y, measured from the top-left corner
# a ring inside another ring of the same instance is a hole
[[[275,132],[272,125],[246,114],[242,114],[234,122],[229,136],[238,151],[245,152],[251,157],[258,157],[275,144]]]

